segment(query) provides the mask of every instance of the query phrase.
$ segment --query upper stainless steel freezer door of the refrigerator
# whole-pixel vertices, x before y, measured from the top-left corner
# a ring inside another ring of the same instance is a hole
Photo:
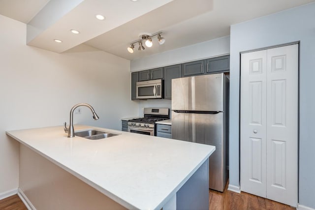
[[[172,110],[223,111],[224,74],[172,80]]]

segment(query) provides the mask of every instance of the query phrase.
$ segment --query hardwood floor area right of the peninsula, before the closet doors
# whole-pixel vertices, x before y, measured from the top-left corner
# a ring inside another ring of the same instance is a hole
[[[295,210],[294,208],[246,192],[209,191],[209,210]]]

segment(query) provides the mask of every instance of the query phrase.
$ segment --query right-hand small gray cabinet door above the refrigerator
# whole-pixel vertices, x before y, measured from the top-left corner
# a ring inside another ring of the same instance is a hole
[[[230,56],[221,56],[206,60],[206,73],[223,72],[230,70]]]

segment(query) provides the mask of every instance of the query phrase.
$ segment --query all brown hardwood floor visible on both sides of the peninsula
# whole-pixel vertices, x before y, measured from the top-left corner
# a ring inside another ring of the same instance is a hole
[[[249,193],[209,191],[209,210],[294,210],[287,205]],[[27,210],[18,195],[0,200],[0,210]]]

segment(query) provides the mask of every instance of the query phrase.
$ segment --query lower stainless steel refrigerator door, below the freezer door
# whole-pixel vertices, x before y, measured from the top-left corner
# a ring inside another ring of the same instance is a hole
[[[216,146],[209,158],[209,188],[224,190],[226,151],[223,143],[223,113],[191,114],[172,112],[172,139]]]

